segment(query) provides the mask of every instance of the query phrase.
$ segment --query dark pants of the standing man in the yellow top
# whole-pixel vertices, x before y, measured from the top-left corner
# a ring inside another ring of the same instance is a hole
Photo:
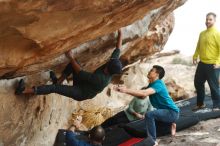
[[[204,104],[205,99],[205,82],[207,81],[211,91],[213,108],[220,108],[220,91],[219,91],[219,69],[215,69],[213,64],[199,62],[196,69],[194,85],[197,93],[197,105]]]

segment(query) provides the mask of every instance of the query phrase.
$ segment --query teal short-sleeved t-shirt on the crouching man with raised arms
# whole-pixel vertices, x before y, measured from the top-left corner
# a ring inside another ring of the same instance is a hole
[[[173,99],[170,97],[166,85],[162,80],[156,80],[148,85],[148,88],[153,88],[155,94],[150,95],[150,102],[153,107],[157,109],[170,109],[179,112],[179,108],[174,103]]]

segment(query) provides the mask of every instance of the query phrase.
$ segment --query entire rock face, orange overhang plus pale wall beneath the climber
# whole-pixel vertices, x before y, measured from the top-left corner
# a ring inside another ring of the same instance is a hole
[[[124,105],[129,99],[118,100],[118,95],[109,93],[111,85],[83,102],[56,94],[15,96],[15,77],[25,76],[29,87],[47,83],[45,71],[60,70],[67,63],[63,53],[69,49],[92,71],[110,56],[113,32],[121,27],[123,63],[150,56],[162,50],[173,29],[172,11],[185,1],[1,0],[0,145],[50,146],[57,129],[69,125],[72,112]]]

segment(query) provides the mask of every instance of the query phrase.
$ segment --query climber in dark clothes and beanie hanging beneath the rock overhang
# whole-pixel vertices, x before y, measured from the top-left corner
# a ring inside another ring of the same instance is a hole
[[[77,101],[91,99],[100,93],[112,80],[112,76],[122,72],[122,64],[119,60],[120,48],[122,47],[122,32],[118,30],[118,37],[116,49],[113,51],[109,61],[96,69],[93,73],[84,71],[77,63],[71,50],[67,51],[66,57],[69,58],[70,63],[64,69],[62,76],[56,80],[53,75],[52,85],[34,86],[33,88],[26,88],[24,80],[21,79],[16,88],[15,94],[36,94],[46,95],[50,93],[57,93]],[[62,81],[69,75],[73,75],[73,85],[61,85]]]

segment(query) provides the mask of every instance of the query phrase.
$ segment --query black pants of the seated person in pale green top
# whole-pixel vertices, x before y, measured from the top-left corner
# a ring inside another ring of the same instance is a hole
[[[116,115],[114,115],[113,117],[107,119],[105,122],[103,122],[101,124],[101,126],[103,128],[108,128],[111,127],[113,125],[117,125],[117,124],[126,124],[129,123],[130,121],[128,120],[126,114],[124,111],[121,111],[119,113],[117,113]]]

